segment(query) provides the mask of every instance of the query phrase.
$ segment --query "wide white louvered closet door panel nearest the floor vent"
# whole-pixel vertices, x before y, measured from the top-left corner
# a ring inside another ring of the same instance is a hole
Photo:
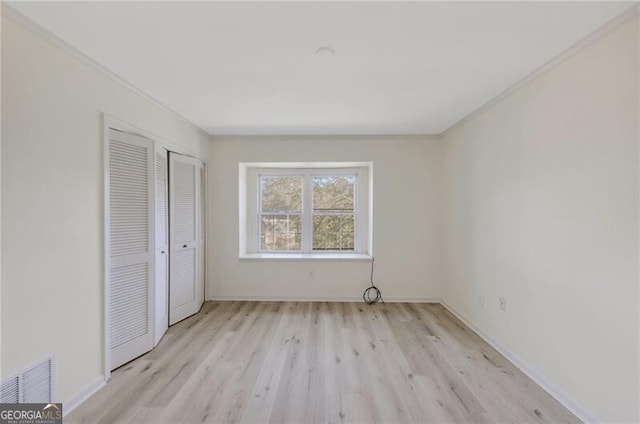
[[[113,369],[153,348],[153,142],[110,130],[108,153],[108,287]]]

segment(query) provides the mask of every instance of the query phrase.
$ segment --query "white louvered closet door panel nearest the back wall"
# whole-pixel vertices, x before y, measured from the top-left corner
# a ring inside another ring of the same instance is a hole
[[[204,284],[199,277],[198,236],[201,162],[169,153],[169,324],[200,310]]]

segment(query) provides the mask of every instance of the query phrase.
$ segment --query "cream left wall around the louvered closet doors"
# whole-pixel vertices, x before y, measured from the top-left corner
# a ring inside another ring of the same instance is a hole
[[[206,137],[7,15],[2,376],[54,352],[67,401],[103,373],[102,112],[194,153]]]

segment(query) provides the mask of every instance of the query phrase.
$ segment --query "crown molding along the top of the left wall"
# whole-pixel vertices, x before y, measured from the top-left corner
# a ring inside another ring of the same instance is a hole
[[[151,103],[154,106],[156,106],[157,108],[161,109],[163,112],[171,115],[172,117],[178,119],[183,124],[185,124],[185,125],[189,126],[190,128],[196,130],[203,137],[205,137],[207,139],[211,138],[212,134],[210,134],[209,132],[207,132],[204,129],[200,128],[199,126],[197,126],[196,124],[194,124],[193,122],[191,122],[190,120],[185,118],[184,116],[180,115],[175,110],[171,109],[169,106],[167,106],[164,103],[160,102],[155,97],[151,96],[150,94],[142,91],[141,89],[139,89],[135,85],[131,84],[125,78],[121,77],[120,75],[118,75],[115,72],[111,71],[110,69],[106,68],[104,65],[100,64],[95,59],[93,59],[90,56],[86,55],[85,53],[81,52],[77,48],[73,47],[71,44],[67,43],[62,38],[58,37],[57,35],[55,35],[51,31],[49,31],[48,29],[44,28],[43,26],[41,26],[40,24],[36,23],[32,19],[30,19],[27,16],[23,15],[18,10],[14,9],[10,5],[8,5],[6,2],[0,2],[0,5],[1,5],[1,10],[2,10],[2,13],[1,13],[2,17],[8,18],[10,21],[20,25],[21,27],[23,27],[24,29],[28,30],[32,34],[35,34],[35,35],[39,36],[40,38],[46,40],[47,42],[51,43],[52,45],[54,45],[55,47],[59,48],[64,53],[68,54],[69,56],[71,56],[74,59],[78,60],[79,62],[83,63],[84,65],[87,65],[87,66],[95,69],[96,71],[100,72],[102,75],[104,75],[104,76],[108,77],[109,79],[117,82],[118,84],[120,84],[124,88],[128,89],[129,91],[141,96],[142,98],[144,98],[149,103]]]

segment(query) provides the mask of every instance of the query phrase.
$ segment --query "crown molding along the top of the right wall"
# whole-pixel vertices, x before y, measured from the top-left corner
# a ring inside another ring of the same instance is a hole
[[[607,23],[605,23],[604,25],[602,25],[601,27],[599,27],[598,29],[596,29],[592,33],[588,34],[587,36],[583,37],[577,43],[573,44],[571,47],[569,47],[568,49],[564,50],[562,53],[558,54],[557,56],[555,56],[551,60],[547,61],[545,64],[543,64],[542,66],[540,66],[539,68],[537,68],[533,72],[529,73],[524,78],[520,79],[518,82],[513,84],[511,87],[507,88],[506,90],[504,90],[503,92],[501,92],[497,96],[493,97],[492,99],[490,99],[489,101],[487,101],[486,103],[481,105],[480,107],[478,107],[475,110],[473,110],[471,113],[467,114],[462,119],[458,120],[457,122],[455,122],[454,124],[449,126],[449,128],[444,130],[440,134],[440,136],[443,137],[443,138],[446,137],[451,131],[455,130],[456,128],[459,128],[459,127],[463,126],[465,123],[469,122],[470,120],[472,120],[476,116],[481,115],[486,110],[488,110],[491,107],[493,107],[494,105],[500,103],[502,100],[504,100],[506,97],[511,95],[513,92],[515,92],[518,89],[520,89],[520,88],[524,87],[525,85],[529,84],[530,82],[532,82],[533,80],[537,79],[541,75],[543,75],[543,74],[551,71],[552,69],[556,68],[557,66],[559,66],[560,64],[562,64],[566,60],[570,59],[571,57],[573,57],[573,56],[577,55],[578,53],[580,53],[582,50],[584,50],[587,47],[589,47],[589,46],[593,45],[594,43],[596,43],[598,40],[602,39],[607,34],[609,34],[609,33],[613,32],[614,30],[618,29],[619,27],[621,27],[622,25],[624,25],[625,23],[627,23],[631,19],[636,18],[640,14],[640,3],[638,3],[638,2],[634,2],[634,3],[635,4],[633,6],[631,6],[626,11],[622,12],[620,15],[618,15],[615,18],[611,19],[610,21],[608,21]]]

